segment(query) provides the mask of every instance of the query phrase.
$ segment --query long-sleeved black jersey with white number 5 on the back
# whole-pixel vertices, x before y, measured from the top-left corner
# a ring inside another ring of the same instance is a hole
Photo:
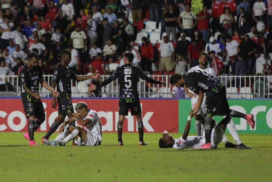
[[[135,102],[135,99],[139,99],[137,89],[138,77],[149,83],[161,83],[160,81],[149,78],[140,67],[132,64],[125,64],[118,67],[110,78],[100,84],[100,87],[103,87],[116,78],[119,78],[120,102]]]

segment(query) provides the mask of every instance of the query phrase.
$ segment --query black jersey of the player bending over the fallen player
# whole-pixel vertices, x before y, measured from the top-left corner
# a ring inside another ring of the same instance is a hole
[[[205,93],[216,89],[218,85],[222,85],[219,78],[199,69],[187,71],[183,75],[183,78],[187,88],[192,90],[195,94],[199,94],[200,90]]]

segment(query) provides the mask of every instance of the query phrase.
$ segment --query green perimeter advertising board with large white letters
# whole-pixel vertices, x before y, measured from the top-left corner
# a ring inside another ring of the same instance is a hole
[[[228,99],[230,109],[242,112],[254,114],[256,126],[254,130],[251,129],[245,119],[233,118],[238,133],[245,134],[272,134],[272,100],[248,100],[248,99]],[[187,122],[187,117],[192,110],[191,99],[179,99],[179,128],[178,131],[183,133],[184,127]],[[223,119],[223,116],[213,117],[217,123]],[[191,132],[196,132],[195,118],[192,118]],[[226,133],[229,133],[226,130]]]

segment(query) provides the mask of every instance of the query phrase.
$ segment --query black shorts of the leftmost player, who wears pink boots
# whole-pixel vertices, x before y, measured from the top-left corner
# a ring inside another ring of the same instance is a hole
[[[22,94],[23,110],[28,119],[29,116],[35,118],[45,118],[44,106],[41,100],[37,100],[29,94]]]

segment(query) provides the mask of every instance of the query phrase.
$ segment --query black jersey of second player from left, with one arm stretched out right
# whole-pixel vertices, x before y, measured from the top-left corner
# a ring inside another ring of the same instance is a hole
[[[69,67],[63,67],[60,63],[55,67],[52,82],[56,82],[59,96],[71,97],[71,79],[76,75]]]

